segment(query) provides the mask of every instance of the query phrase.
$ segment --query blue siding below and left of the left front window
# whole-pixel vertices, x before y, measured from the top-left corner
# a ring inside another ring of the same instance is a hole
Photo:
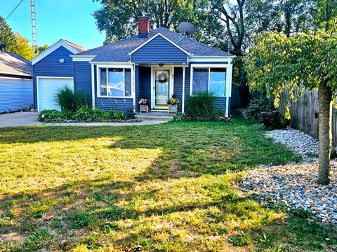
[[[133,98],[113,98],[113,97],[98,97],[97,94],[97,66],[95,66],[95,106],[104,111],[117,110],[126,111],[133,109]],[[136,75],[135,75],[136,77]]]

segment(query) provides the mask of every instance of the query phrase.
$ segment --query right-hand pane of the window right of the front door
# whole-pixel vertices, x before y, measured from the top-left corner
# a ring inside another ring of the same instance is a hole
[[[211,69],[209,80],[209,92],[214,96],[225,96],[226,69]]]

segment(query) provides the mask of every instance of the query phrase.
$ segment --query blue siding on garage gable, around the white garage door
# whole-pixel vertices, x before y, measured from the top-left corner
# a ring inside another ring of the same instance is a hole
[[[33,66],[33,87],[34,87],[34,109],[37,109],[37,76],[55,76],[55,77],[73,77],[74,62],[69,56],[72,55],[70,50],[63,46],[53,51],[50,55],[41,59]],[[65,59],[60,64],[59,59]]]

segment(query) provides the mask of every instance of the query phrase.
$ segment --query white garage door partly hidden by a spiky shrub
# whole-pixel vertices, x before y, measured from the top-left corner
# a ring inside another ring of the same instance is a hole
[[[44,109],[58,109],[60,106],[55,102],[55,95],[62,87],[68,86],[74,90],[72,78],[37,78],[37,105],[38,111]]]

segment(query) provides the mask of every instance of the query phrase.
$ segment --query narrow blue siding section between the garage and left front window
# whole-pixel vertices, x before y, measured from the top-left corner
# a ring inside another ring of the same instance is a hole
[[[91,64],[89,62],[74,62],[74,90],[86,94],[88,105],[91,104]]]

